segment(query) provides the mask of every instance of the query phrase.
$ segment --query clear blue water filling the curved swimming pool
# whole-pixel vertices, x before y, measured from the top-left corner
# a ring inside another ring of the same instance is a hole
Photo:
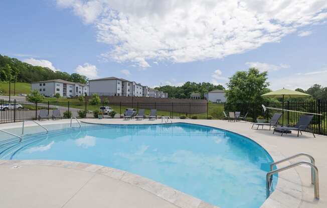
[[[270,155],[230,131],[187,123],[90,125],[0,142],[1,159],[59,159],[126,170],[222,208],[260,207]]]

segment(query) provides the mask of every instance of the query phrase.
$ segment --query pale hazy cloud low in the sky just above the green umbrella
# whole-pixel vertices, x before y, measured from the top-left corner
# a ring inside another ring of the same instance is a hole
[[[302,88],[307,89],[313,84],[325,85],[327,80],[327,69],[297,73],[289,76],[279,76],[278,78],[269,79],[269,88],[275,90],[282,87],[289,89]]]

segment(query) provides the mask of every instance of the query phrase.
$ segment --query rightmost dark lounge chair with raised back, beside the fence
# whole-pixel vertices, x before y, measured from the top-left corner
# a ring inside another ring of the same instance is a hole
[[[308,127],[310,125],[312,118],[313,118],[313,115],[301,115],[301,117],[298,119],[298,121],[294,127],[287,127],[287,126],[276,127],[276,128],[274,128],[273,133],[278,132],[278,133],[281,133],[281,135],[283,135],[283,133],[288,133],[291,130],[297,130],[297,137],[298,137],[299,133],[301,133],[301,135],[302,135],[302,132],[301,132],[302,130],[309,130]],[[312,130],[311,130],[311,133],[313,134],[313,137],[315,138],[315,135]]]

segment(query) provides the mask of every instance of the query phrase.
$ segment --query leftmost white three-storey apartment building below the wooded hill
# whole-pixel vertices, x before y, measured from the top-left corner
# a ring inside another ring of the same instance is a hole
[[[31,83],[32,90],[39,90],[45,96],[54,96],[59,93],[60,96],[73,97],[89,94],[87,84],[66,81],[62,79],[52,79],[45,81],[36,81]]]

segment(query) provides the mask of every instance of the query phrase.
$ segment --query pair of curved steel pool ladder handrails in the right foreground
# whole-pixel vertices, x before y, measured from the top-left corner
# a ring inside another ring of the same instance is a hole
[[[286,165],[284,167],[277,168],[277,169],[273,170],[273,166],[275,164],[279,164],[281,162],[284,162],[284,161],[287,161],[287,160],[290,160],[290,159],[293,159],[293,158],[296,158],[296,157],[299,157],[299,156],[307,156],[310,159],[310,162],[308,162],[308,161],[299,161],[299,162],[295,162],[295,163],[292,163],[292,164]],[[286,157],[284,159],[275,161],[275,162],[270,164],[270,171],[267,172],[267,174],[266,174],[266,198],[268,198],[269,195],[270,195],[270,189],[271,189],[271,186],[272,186],[272,175],[273,174],[275,174],[277,172],[280,172],[280,171],[283,171],[283,170],[286,170],[286,169],[289,169],[289,168],[292,168],[292,167],[295,167],[295,166],[298,166],[298,165],[301,165],[301,164],[307,164],[307,165],[309,165],[311,167],[311,184],[313,184],[313,186],[314,186],[314,197],[316,199],[319,199],[319,174],[318,174],[318,168],[315,166],[315,160],[314,160],[313,156],[311,156],[310,154],[304,153],[304,152],[301,152],[301,153]]]

